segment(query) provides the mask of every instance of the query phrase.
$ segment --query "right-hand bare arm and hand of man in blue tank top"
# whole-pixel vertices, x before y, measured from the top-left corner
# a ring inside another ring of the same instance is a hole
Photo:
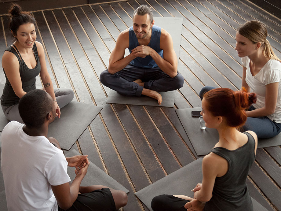
[[[163,58],[149,46],[137,46],[132,53],[143,58],[150,55],[163,72],[172,78],[177,76],[177,55],[173,49],[173,40],[164,29],[161,30],[160,48],[163,49]]]

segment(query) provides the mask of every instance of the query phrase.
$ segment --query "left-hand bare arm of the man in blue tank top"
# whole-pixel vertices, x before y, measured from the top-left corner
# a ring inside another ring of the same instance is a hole
[[[129,47],[129,29],[122,31],[116,41],[115,48],[109,57],[108,72],[114,74],[126,67],[136,56],[129,54],[124,57],[126,48]]]

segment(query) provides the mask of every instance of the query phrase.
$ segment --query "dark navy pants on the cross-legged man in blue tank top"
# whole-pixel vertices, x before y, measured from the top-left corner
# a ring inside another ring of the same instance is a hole
[[[140,79],[144,87],[139,86],[134,80]],[[124,69],[110,74],[108,70],[100,74],[100,81],[104,86],[109,87],[120,94],[140,97],[143,88],[154,91],[172,91],[183,86],[184,78],[181,74],[171,78],[159,67],[140,68],[127,65]]]

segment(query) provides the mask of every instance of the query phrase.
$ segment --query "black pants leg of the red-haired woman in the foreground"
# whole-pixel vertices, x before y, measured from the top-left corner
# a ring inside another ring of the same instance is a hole
[[[154,211],[186,211],[184,205],[187,202],[190,201],[164,194],[152,199],[151,208]]]

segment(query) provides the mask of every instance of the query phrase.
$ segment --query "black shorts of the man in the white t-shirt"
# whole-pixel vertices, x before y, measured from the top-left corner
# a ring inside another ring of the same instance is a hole
[[[114,211],[115,202],[109,188],[78,194],[73,205],[66,211]],[[59,207],[58,211],[64,211]]]

